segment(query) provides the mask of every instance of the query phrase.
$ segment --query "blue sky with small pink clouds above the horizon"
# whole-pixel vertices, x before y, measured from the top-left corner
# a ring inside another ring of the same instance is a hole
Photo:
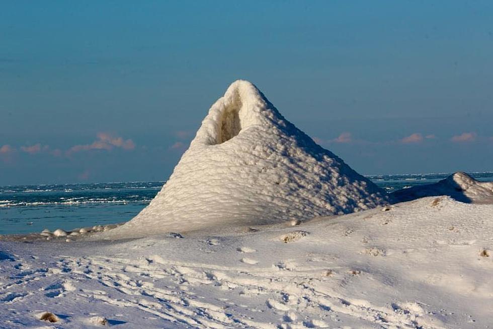
[[[493,2],[0,4],[0,185],[166,180],[229,83],[363,174],[493,170]]]

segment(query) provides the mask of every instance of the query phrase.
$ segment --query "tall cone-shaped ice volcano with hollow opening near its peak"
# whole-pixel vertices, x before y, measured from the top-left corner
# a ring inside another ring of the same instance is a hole
[[[248,81],[210,108],[152,202],[109,236],[262,225],[351,213],[386,193],[287,121]]]

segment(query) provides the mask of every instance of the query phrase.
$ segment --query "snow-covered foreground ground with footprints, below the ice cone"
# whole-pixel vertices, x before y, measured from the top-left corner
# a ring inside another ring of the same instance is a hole
[[[490,328],[492,215],[442,196],[235,234],[0,242],[0,327]]]

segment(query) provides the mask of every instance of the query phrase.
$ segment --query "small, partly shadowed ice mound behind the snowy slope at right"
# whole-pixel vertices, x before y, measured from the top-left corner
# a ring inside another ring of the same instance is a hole
[[[464,203],[493,204],[493,182],[480,182],[464,172],[456,172],[438,183],[405,188],[390,195],[396,202],[448,195]]]

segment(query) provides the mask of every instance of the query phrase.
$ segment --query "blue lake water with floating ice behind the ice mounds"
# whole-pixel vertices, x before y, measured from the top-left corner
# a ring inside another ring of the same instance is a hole
[[[444,174],[368,176],[388,192],[437,182]],[[493,180],[493,172],[471,174]],[[0,186],[0,234],[70,230],[120,223],[137,215],[164,182]]]

